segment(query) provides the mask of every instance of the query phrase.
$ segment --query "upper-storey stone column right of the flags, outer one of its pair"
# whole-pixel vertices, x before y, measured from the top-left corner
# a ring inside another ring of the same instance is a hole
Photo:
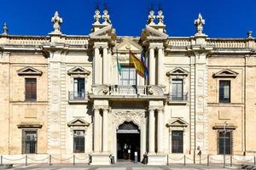
[[[164,54],[163,47],[158,48],[158,62],[157,62],[157,84],[162,85],[164,79]]]

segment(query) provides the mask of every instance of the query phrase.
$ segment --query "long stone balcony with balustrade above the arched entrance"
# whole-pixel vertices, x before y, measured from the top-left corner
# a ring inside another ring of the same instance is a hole
[[[148,100],[167,99],[164,88],[160,86],[123,86],[123,85],[94,85],[90,99],[111,100]]]

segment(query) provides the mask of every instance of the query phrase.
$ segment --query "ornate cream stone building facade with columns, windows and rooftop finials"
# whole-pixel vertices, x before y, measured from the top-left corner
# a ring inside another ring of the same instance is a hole
[[[96,10],[86,36],[63,34],[57,12],[52,22],[40,37],[3,26],[0,155],[75,155],[91,164],[137,155],[152,165],[199,152],[255,156],[251,31],[208,37],[199,14],[194,36],[169,37],[161,10],[149,12],[140,37],[117,36],[108,10]],[[130,51],[146,56],[148,77],[129,66]]]

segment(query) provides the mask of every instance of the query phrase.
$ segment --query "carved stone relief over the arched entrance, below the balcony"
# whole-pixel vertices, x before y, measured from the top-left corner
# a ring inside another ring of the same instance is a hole
[[[133,122],[141,129],[145,123],[144,116],[145,111],[113,111],[113,123],[116,129],[124,122]]]

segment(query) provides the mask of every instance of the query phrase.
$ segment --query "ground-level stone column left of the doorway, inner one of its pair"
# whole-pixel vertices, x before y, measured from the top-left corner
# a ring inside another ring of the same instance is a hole
[[[102,151],[108,152],[108,110],[103,110]]]

